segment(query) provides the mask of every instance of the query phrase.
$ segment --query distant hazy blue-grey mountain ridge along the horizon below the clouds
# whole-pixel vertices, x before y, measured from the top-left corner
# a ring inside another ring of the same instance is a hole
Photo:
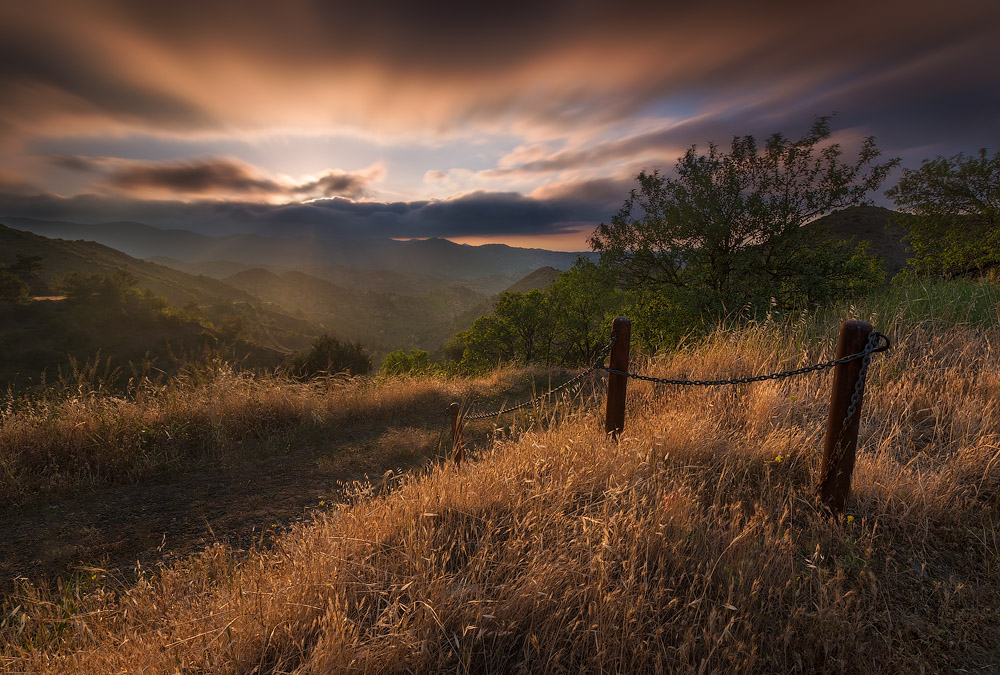
[[[383,238],[268,237],[238,234],[210,237],[185,230],[161,230],[141,223],[85,225],[24,218],[11,225],[47,237],[86,239],[137,258],[167,256],[185,262],[229,261],[252,266],[348,267],[393,270],[446,279],[489,276],[519,278],[539,267],[566,269],[576,253],[515,248],[504,244],[467,246],[447,239],[396,241]]]

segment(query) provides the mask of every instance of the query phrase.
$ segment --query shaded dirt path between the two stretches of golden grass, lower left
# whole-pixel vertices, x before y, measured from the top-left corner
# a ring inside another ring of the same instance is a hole
[[[389,469],[412,469],[447,450],[445,403],[328,438],[289,444],[262,456],[244,453],[228,466],[202,465],[0,514],[0,593],[23,577],[51,584],[79,568],[100,567],[130,579],[225,542],[245,549],[336,502],[342,486]],[[433,414],[437,413],[437,414]],[[283,443],[271,446],[280,447]]]

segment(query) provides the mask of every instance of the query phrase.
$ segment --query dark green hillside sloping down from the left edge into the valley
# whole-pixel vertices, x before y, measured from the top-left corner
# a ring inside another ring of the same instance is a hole
[[[216,279],[137,260],[94,242],[49,239],[0,225],[0,265],[13,263],[18,255],[42,259],[32,281],[35,295],[51,295],[51,287],[70,273],[111,276],[124,271],[135,287],[154,297],[130,297],[115,306],[0,303],[3,382],[36,378],[43,370],[51,376],[68,364],[68,357],[83,362],[98,351],[115,366],[142,361],[146,354],[159,358],[162,366],[163,359],[209,346],[246,365],[277,365],[291,350],[308,347],[321,331]]]

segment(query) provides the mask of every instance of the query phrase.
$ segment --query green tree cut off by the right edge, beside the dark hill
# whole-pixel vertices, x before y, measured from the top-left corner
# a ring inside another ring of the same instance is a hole
[[[1000,153],[924,160],[886,192],[906,217],[918,275],[969,276],[1000,267]]]

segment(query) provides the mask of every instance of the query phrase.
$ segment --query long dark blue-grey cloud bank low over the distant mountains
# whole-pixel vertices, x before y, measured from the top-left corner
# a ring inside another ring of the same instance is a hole
[[[128,220],[205,234],[409,238],[559,234],[606,219],[609,208],[568,195],[537,199],[495,192],[442,201],[354,202],[338,198],[282,205],[6,194],[0,195],[0,222],[5,216],[82,223]]]

